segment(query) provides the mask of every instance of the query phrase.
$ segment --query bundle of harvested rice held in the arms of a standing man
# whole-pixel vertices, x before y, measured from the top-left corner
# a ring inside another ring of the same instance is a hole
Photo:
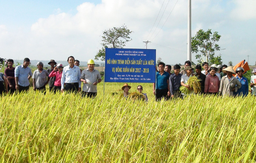
[[[200,79],[198,79],[196,76],[192,76],[189,78],[188,82],[185,84],[190,85],[191,89],[194,90],[194,93],[197,94],[201,91],[201,83]],[[187,87],[181,86],[180,91],[184,93],[185,95],[188,95],[190,93],[190,90]]]

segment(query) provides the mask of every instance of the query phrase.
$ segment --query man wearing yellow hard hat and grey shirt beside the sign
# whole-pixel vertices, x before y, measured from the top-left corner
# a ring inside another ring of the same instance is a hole
[[[88,68],[81,73],[80,81],[83,82],[82,97],[96,97],[97,84],[101,82],[101,76],[98,70],[94,69],[94,61],[89,59]]]

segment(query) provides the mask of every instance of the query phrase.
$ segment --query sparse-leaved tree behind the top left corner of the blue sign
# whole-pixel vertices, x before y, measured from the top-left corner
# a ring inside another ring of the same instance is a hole
[[[112,29],[105,30],[102,36],[102,48],[99,49],[98,53],[95,55],[96,60],[105,60],[105,48],[123,48],[126,42],[131,41],[129,37],[130,31],[126,26],[122,25],[119,28],[113,27]]]

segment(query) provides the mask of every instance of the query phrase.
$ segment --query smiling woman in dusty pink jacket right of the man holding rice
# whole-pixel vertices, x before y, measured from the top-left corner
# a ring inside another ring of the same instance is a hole
[[[216,95],[219,91],[220,81],[217,75],[215,75],[215,68],[210,68],[210,75],[207,75],[204,82],[204,93]]]

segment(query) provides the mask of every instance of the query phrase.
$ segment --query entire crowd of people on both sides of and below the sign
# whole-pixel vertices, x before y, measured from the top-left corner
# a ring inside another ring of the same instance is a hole
[[[96,97],[97,84],[102,81],[98,70],[94,69],[94,61],[88,60],[88,68],[81,70],[79,60],[75,60],[73,56],[67,58],[68,65],[63,67],[57,64],[55,60],[51,60],[48,64],[51,68],[43,69],[42,62],[37,63],[37,70],[32,74],[28,67],[30,59],[25,58],[22,65],[13,67],[13,59],[7,60],[7,68],[4,73],[0,73],[0,94],[4,91],[10,94],[16,91],[28,91],[29,80],[33,79],[33,89],[46,93],[46,85],[49,84],[50,92],[79,92],[82,91],[82,97]],[[201,94],[213,94],[222,96],[247,96],[249,91],[247,78],[243,76],[244,69],[236,68],[234,71],[231,66],[212,64],[209,66],[207,62],[202,65],[196,65],[195,70],[191,66],[190,61],[185,62],[185,69],[181,70],[181,66],[176,64],[173,66],[174,72],[171,74],[171,65],[165,65],[163,62],[158,63],[156,68],[156,83],[153,83],[153,94],[156,101],[161,99],[183,98],[188,96],[180,91],[180,87],[184,86],[193,94],[193,88],[188,84],[188,80],[192,76],[196,76],[200,80]],[[202,70],[203,68],[203,70]],[[256,68],[252,71],[250,87],[251,94],[256,95]],[[236,75],[234,77],[233,75]],[[81,82],[83,87],[81,89]],[[122,90],[124,97],[129,96],[129,86],[124,84]],[[139,85],[137,91],[142,93],[143,87]],[[142,93],[148,101],[147,95]]]

